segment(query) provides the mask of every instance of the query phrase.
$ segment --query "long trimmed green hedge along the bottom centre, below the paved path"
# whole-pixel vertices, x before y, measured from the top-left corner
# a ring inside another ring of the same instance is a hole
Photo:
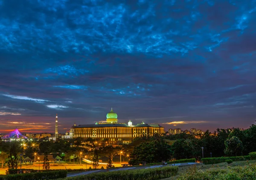
[[[99,172],[59,180],[160,180],[176,175],[177,171],[177,166],[166,166],[152,169]]]

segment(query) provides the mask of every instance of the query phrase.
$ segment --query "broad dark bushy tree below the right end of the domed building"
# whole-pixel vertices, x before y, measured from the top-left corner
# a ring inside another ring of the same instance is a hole
[[[129,164],[139,165],[143,161],[158,163],[162,160],[170,160],[172,156],[171,145],[163,140],[141,143],[131,152]]]

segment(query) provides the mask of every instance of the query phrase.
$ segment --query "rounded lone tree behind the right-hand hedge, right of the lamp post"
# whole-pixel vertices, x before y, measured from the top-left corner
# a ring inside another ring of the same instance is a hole
[[[224,150],[224,152],[226,155],[229,155],[229,156],[241,155],[241,152],[243,151],[243,143],[236,136],[233,136],[232,138],[227,139],[225,141],[225,147],[226,149]]]

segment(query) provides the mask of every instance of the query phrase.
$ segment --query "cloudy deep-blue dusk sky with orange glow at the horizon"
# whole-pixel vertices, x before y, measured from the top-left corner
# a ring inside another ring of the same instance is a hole
[[[0,133],[256,119],[256,0],[0,0]]]

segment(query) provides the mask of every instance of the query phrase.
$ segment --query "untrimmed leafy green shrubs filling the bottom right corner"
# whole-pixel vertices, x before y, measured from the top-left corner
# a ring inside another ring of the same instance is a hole
[[[207,171],[200,171],[196,167],[191,167],[189,171],[181,174],[177,180],[256,180],[256,165]]]

